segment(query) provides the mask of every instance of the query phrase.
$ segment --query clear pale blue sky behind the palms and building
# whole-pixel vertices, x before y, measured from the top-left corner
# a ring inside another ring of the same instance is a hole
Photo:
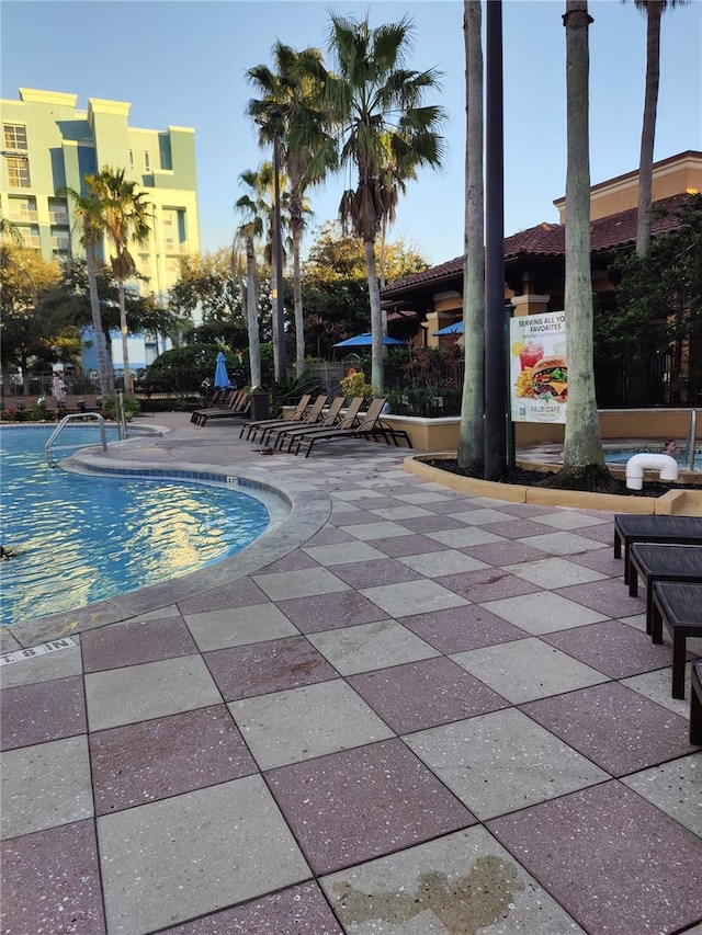
[[[2,0],[1,94],[38,88],[132,103],[131,124],[195,129],[202,249],[231,242],[239,174],[260,150],[245,107],[245,72],[271,64],[276,39],[326,52],[328,11],[373,26],[415,23],[410,67],[443,72],[439,101],[449,113],[439,172],[410,183],[390,237],[404,236],[431,263],[463,252],[463,3],[316,0]],[[645,18],[620,0],[591,0],[590,155],[592,184],[636,169],[644,99]],[[565,193],[565,0],[505,0],[505,231],[556,221]],[[702,149],[702,2],[663,20],[656,159]],[[343,180],[309,201],[312,228],[333,219]],[[309,243],[310,235],[307,235]]]

